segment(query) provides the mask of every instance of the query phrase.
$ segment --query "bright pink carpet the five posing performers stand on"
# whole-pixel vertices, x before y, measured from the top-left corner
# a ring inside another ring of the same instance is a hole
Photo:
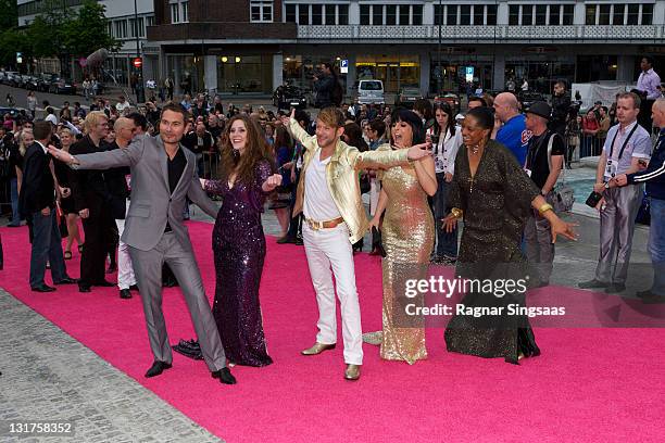
[[[212,299],[212,225],[189,225]],[[537,329],[542,351],[520,366],[449,354],[442,329],[428,330],[429,359],[384,362],[365,344],[359,382],[342,379],[342,346],[299,354],[315,338],[316,303],[304,251],[268,238],[261,287],[275,364],[236,367],[239,380],[213,380],[202,362],[174,354],[174,367],[143,378],[152,363],[140,300],[76,287],[29,291],[26,228],[0,229],[0,286],[212,433],[229,442],[619,442],[663,441],[663,329]],[[78,277],[78,254],[67,262]],[[380,329],[380,262],[356,257],[363,329]],[[554,288],[551,291],[572,291]],[[171,342],[193,330],[178,289],[165,291]],[[340,337],[341,344],[341,337]]]

